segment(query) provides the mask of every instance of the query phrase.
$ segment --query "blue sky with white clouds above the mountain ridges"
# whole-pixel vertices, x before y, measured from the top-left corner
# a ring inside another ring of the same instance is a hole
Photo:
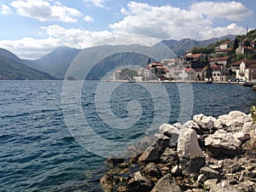
[[[0,48],[22,59],[111,38],[203,40],[245,34],[247,27],[256,27],[255,0],[0,0]]]

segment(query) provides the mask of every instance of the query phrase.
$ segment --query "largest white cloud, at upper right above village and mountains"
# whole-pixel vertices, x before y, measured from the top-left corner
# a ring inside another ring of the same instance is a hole
[[[174,8],[170,5],[154,7],[148,3],[131,2],[128,3],[127,9],[121,9],[121,13],[125,15],[124,19],[109,25],[117,34],[139,34],[152,38],[206,39],[216,37],[218,34],[208,32],[207,29],[221,31],[224,35],[240,34],[242,30],[239,26],[215,29],[214,19],[244,20],[252,11],[236,2],[195,3],[189,9]]]

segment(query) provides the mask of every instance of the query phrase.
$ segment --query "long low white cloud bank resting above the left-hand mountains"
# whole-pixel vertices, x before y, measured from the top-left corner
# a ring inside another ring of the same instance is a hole
[[[44,26],[48,38],[21,38],[19,40],[1,40],[0,47],[9,49],[23,59],[36,59],[46,55],[52,49],[68,46],[77,49],[91,47],[105,38],[113,36],[112,32],[90,32],[76,28],[64,28],[58,25]]]

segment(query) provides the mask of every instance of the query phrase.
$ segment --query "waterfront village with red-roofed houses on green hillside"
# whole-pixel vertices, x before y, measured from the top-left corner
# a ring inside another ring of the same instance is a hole
[[[182,56],[151,62],[137,70],[113,72],[113,81],[256,82],[256,30],[235,40],[193,48]]]

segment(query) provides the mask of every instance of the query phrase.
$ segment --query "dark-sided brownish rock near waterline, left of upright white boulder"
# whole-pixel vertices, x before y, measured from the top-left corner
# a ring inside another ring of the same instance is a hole
[[[158,163],[160,161],[160,154],[158,150],[154,147],[148,147],[143,154],[138,158],[140,163]]]

